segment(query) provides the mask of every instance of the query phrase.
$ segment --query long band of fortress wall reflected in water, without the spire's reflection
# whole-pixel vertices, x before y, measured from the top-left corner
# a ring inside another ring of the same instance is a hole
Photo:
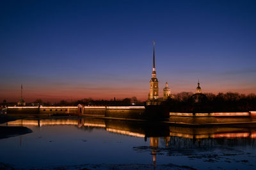
[[[168,144],[170,137],[183,137],[186,139],[206,139],[206,138],[236,138],[248,137],[256,138],[256,130],[252,128],[236,127],[170,127],[168,125],[154,126],[147,123],[103,120],[97,118],[80,119],[41,119],[41,120],[15,120],[6,123],[8,126],[37,126],[47,125],[76,125],[77,127],[100,127],[108,132],[116,134],[131,135],[134,137],[164,137]],[[151,141],[150,141],[151,142]]]

